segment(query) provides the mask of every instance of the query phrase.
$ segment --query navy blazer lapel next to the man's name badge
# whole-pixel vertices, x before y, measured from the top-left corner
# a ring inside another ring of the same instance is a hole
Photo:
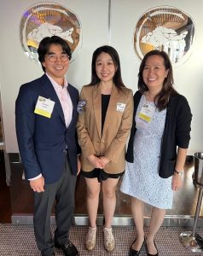
[[[42,79],[43,79],[42,80],[42,84],[43,84],[42,90],[44,91],[44,95],[48,99],[50,99],[51,101],[55,102],[54,109],[59,113],[59,115],[61,117],[61,120],[63,121],[64,125],[66,125],[63,110],[62,110],[62,107],[61,107],[61,102],[60,102],[57,94],[55,93],[54,86],[51,84],[51,82],[48,79],[46,74],[44,74]]]

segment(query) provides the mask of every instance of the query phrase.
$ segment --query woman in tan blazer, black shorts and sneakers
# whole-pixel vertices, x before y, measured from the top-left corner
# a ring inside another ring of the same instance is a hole
[[[96,245],[96,215],[102,184],[104,247],[112,251],[115,190],[119,177],[125,172],[125,143],[133,115],[132,91],[123,84],[119,55],[113,47],[105,45],[94,52],[91,82],[81,90],[78,113],[81,174],[87,184],[90,218],[85,247],[93,250]]]

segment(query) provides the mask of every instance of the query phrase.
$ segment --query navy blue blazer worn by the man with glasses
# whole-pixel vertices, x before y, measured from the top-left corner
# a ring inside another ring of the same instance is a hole
[[[77,154],[80,153],[76,134],[78,90],[68,84],[68,92],[73,102],[73,118],[67,128],[61,103],[46,74],[20,86],[15,102],[15,126],[27,179],[42,173],[45,183],[55,183],[64,171],[66,148],[71,170],[77,174]],[[38,96],[55,102],[51,118],[34,113]]]

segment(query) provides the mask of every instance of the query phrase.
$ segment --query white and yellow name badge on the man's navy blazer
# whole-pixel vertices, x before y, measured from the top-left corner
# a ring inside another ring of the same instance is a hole
[[[38,102],[36,103],[34,113],[38,113],[47,118],[51,117],[55,106],[55,102],[44,98],[43,96],[38,96]]]

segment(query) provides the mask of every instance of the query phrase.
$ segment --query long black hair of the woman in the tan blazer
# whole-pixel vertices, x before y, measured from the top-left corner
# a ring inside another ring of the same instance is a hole
[[[113,83],[119,90],[122,90],[122,87],[125,87],[125,84],[123,83],[123,80],[121,77],[119,54],[116,49],[114,49],[112,46],[109,46],[109,45],[103,45],[103,46],[97,48],[92,55],[90,85],[95,85],[100,82],[100,79],[98,78],[98,76],[96,74],[96,59],[97,59],[98,55],[102,54],[102,52],[107,53],[108,55],[110,55],[112,57],[113,64],[116,67],[116,72],[113,76]]]

